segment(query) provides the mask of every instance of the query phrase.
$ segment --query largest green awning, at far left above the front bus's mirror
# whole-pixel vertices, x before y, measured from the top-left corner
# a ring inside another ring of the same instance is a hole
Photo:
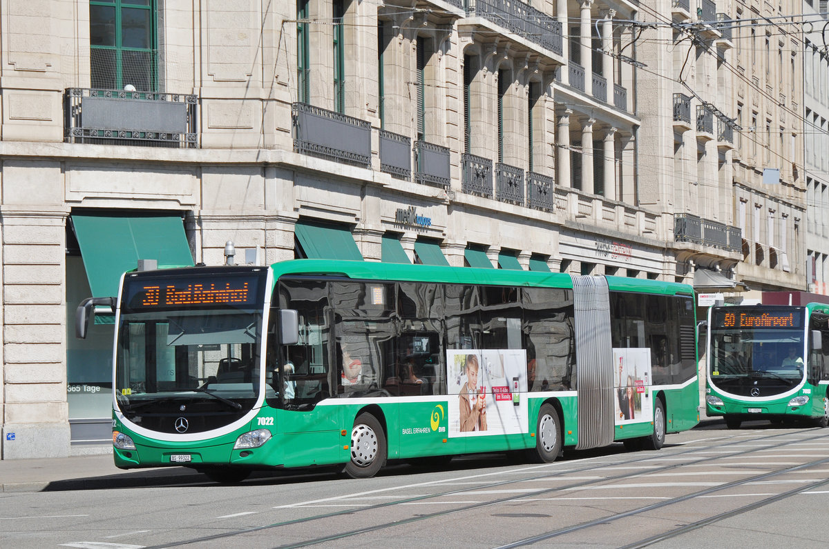
[[[118,295],[121,275],[138,259],[158,267],[192,267],[193,256],[179,215],[72,214],[72,227],[84,259],[93,297]]]

